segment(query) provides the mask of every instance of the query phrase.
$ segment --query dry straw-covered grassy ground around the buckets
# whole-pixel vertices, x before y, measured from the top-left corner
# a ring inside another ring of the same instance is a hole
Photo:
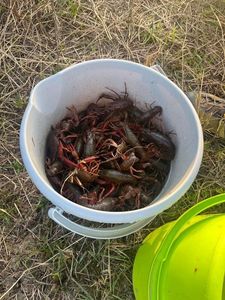
[[[132,265],[143,238],[225,191],[224,140],[204,132],[200,172],[176,205],[129,237],[98,241],[47,217],[50,203],[20,156],[22,115],[41,79],[100,57],[159,63],[185,92],[224,98],[225,2],[3,0],[0,27],[0,299],[134,299]]]

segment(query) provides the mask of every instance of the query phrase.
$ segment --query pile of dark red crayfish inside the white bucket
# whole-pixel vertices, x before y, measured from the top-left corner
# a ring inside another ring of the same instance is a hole
[[[161,116],[161,106],[140,109],[126,89],[103,93],[80,112],[68,107],[47,136],[50,183],[67,199],[96,210],[149,205],[176,151]]]

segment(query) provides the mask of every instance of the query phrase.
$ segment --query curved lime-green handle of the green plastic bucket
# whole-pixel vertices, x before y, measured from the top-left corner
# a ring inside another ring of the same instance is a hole
[[[163,263],[166,261],[170,249],[175,241],[175,238],[177,234],[180,232],[181,228],[194,216],[198,215],[199,213],[205,211],[206,209],[218,205],[225,202],[225,193],[220,194],[211,198],[208,198],[206,200],[203,200],[187,210],[173,225],[172,229],[168,232],[168,234],[163,239],[152,264],[152,270],[150,272],[149,276],[149,282],[151,282],[151,286],[155,287],[157,297],[156,299],[159,299],[159,278],[160,273],[162,270]],[[164,245],[169,245],[168,247],[165,247]],[[159,263],[160,262],[160,263]],[[154,298],[155,299],[155,298]]]

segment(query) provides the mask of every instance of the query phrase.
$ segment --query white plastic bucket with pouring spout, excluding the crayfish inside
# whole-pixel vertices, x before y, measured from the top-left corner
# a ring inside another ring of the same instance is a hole
[[[44,168],[46,136],[50,126],[64,117],[66,107],[74,104],[82,110],[106,91],[106,87],[124,91],[124,82],[132,99],[147,103],[155,101],[155,105],[162,106],[166,128],[176,133],[173,135],[176,157],[170,176],[154,203],[126,212],[97,211],[71,202],[52,188]],[[97,59],[72,65],[34,87],[22,120],[20,148],[32,181],[55,205],[50,208],[49,217],[72,232],[108,239],[133,233],[180,199],[198,173],[203,135],[191,102],[167,77],[141,64]],[[82,226],[69,220],[64,212],[89,221],[120,225],[110,228]]]

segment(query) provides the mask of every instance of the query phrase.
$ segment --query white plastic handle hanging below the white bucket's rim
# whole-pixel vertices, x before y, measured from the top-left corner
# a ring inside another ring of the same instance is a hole
[[[50,208],[48,216],[58,225],[73,233],[95,239],[115,239],[129,235],[143,228],[154,218],[147,218],[135,223],[115,225],[110,228],[91,228],[69,220],[63,215],[63,210],[59,207]]]

